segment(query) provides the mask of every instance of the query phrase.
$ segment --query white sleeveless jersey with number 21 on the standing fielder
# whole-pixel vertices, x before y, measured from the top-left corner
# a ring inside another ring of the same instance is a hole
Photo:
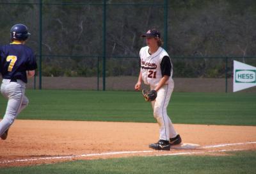
[[[157,86],[157,84],[163,77],[161,72],[161,61],[164,56],[168,56],[169,58],[170,56],[162,47],[159,47],[157,51],[154,52],[154,54],[149,54],[148,49],[148,46],[142,47],[140,49],[142,79],[145,84],[149,84],[150,86]],[[173,83],[172,69],[170,73],[170,78],[168,79],[168,81],[166,81],[166,84]]]

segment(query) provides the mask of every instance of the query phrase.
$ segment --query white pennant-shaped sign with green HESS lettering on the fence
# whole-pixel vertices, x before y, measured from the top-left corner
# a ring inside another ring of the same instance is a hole
[[[234,60],[233,91],[256,86],[256,67]]]

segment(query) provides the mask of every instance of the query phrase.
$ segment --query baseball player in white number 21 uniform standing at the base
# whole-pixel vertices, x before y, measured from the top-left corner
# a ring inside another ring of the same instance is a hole
[[[154,118],[159,123],[160,136],[159,141],[149,147],[155,150],[170,150],[172,145],[178,145],[182,141],[166,111],[174,88],[172,61],[161,47],[163,42],[159,31],[150,29],[142,37],[146,38],[147,46],[140,50],[140,75],[134,88],[140,90],[143,81],[150,86],[150,90],[157,91],[152,107]]]

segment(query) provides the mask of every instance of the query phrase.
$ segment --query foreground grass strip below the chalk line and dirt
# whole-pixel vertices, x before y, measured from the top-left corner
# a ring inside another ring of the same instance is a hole
[[[255,173],[256,152],[236,152],[226,156],[129,157],[61,162],[41,166],[2,168],[4,173]]]

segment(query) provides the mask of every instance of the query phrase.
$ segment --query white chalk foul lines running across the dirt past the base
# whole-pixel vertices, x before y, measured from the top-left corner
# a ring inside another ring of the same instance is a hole
[[[214,148],[214,147],[246,145],[246,144],[256,144],[256,142],[208,145],[208,146],[202,146],[201,148]],[[207,151],[207,152],[179,152],[179,153],[174,153],[174,154],[161,154],[161,155],[154,155],[154,156],[205,154],[205,153],[209,153],[209,152],[228,152],[228,151],[237,151],[237,150],[244,150],[244,149],[210,150],[210,151]],[[156,152],[156,151],[154,151],[154,150],[143,150],[143,151],[104,152],[104,153],[99,153],[99,154],[81,154],[81,155],[67,155],[67,156],[53,156],[53,157],[39,157],[39,158],[29,158],[29,159],[14,159],[14,160],[0,161],[0,164],[6,164],[6,163],[12,163],[12,162],[42,161],[42,160],[52,160],[52,159],[72,159],[72,158],[79,158],[79,157],[95,157],[95,156],[104,156],[104,155],[145,154],[145,153],[150,153],[150,152]]]

